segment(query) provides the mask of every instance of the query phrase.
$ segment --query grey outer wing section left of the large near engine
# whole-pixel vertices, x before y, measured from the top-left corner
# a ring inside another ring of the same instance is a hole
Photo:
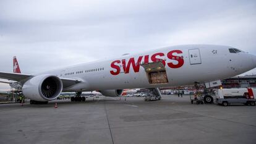
[[[19,82],[20,80],[24,80],[26,78],[30,78],[30,77],[33,77],[33,75],[0,72],[0,78],[6,79],[6,80],[15,80],[17,82]]]

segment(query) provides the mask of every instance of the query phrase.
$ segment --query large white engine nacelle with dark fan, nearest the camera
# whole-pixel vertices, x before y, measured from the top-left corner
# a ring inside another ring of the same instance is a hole
[[[51,101],[58,98],[63,88],[55,75],[37,75],[24,83],[22,91],[26,98],[35,101]]]

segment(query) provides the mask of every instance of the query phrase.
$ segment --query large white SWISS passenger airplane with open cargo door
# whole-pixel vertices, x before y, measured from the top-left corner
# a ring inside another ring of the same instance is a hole
[[[17,66],[18,69],[19,66]],[[62,69],[19,74],[0,72],[0,78],[22,85],[30,103],[55,100],[62,92],[98,90],[104,96],[121,96],[124,89],[149,88],[161,99],[159,87],[209,83],[242,74],[256,67],[256,56],[231,46],[190,44],[125,54]],[[19,72],[17,69],[14,72]],[[78,99],[81,100],[81,99]],[[74,101],[74,99],[72,100]]]

